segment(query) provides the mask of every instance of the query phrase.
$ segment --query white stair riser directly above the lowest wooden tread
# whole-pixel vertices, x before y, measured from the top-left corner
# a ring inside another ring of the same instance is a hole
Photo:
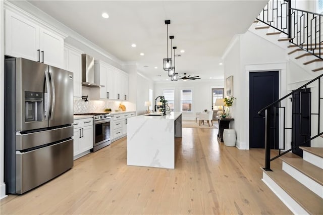
[[[289,174],[291,177],[302,183],[305,187],[310,189],[313,193],[323,198],[323,186],[307,177],[303,173],[299,172],[292,166],[283,162],[283,170]]]

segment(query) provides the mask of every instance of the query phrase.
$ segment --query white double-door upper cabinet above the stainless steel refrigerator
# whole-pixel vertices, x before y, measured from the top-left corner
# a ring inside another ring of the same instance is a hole
[[[5,54],[64,67],[64,38],[27,17],[6,10]]]

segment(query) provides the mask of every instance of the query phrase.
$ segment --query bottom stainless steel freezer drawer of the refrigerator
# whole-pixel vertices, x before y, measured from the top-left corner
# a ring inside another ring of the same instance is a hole
[[[16,153],[16,193],[22,194],[73,167],[73,139]]]

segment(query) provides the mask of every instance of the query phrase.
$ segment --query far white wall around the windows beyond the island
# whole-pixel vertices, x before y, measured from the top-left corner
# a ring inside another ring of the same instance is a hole
[[[179,80],[179,81],[168,81],[168,82],[155,82],[154,83],[154,99],[163,95],[163,90],[174,89],[175,90],[175,101],[174,111],[180,111],[180,99],[182,89],[192,89],[193,101],[192,101],[192,112],[183,113],[183,120],[195,120],[195,113],[202,112],[204,109],[211,110],[211,89],[212,88],[223,88],[224,81],[222,79],[213,80]],[[154,104],[153,104],[154,105]]]

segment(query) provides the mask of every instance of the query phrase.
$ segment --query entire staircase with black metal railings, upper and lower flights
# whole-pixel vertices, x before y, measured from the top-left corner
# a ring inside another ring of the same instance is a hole
[[[261,116],[264,114],[266,121],[265,167],[262,181],[293,213],[323,214],[323,132],[320,128],[320,124],[323,124],[323,113],[320,111],[320,106],[323,105],[323,90],[321,90],[323,84],[323,15],[292,9],[290,1],[271,0],[253,22],[252,27],[254,30],[251,29],[251,31],[255,34],[284,48],[288,59],[305,71],[318,74],[317,78],[258,112]],[[313,85],[316,81],[317,84]],[[306,88],[316,89],[316,91],[310,92],[308,104],[310,127],[315,132],[311,132],[310,136],[307,135],[308,140],[305,142],[319,138],[321,139],[318,141],[320,145],[319,147],[297,146],[303,151],[303,157],[286,156],[293,150],[293,148],[285,149],[288,143],[286,136],[293,124],[290,121],[295,115],[302,118],[304,114],[301,110],[296,113],[294,110],[288,111],[285,105],[287,102],[284,99],[293,97],[293,93],[299,93],[301,97],[301,91],[306,91]],[[312,101],[316,98],[313,109]],[[270,116],[273,113],[280,117],[280,122],[282,122],[280,125],[284,125],[283,129],[271,125]],[[286,117],[287,114],[291,117]],[[313,126],[313,122],[317,125],[314,123]],[[284,146],[278,148],[278,156],[271,158],[271,135],[277,134],[280,137],[283,136]],[[276,158],[282,160],[282,168],[271,170],[270,163]]]

